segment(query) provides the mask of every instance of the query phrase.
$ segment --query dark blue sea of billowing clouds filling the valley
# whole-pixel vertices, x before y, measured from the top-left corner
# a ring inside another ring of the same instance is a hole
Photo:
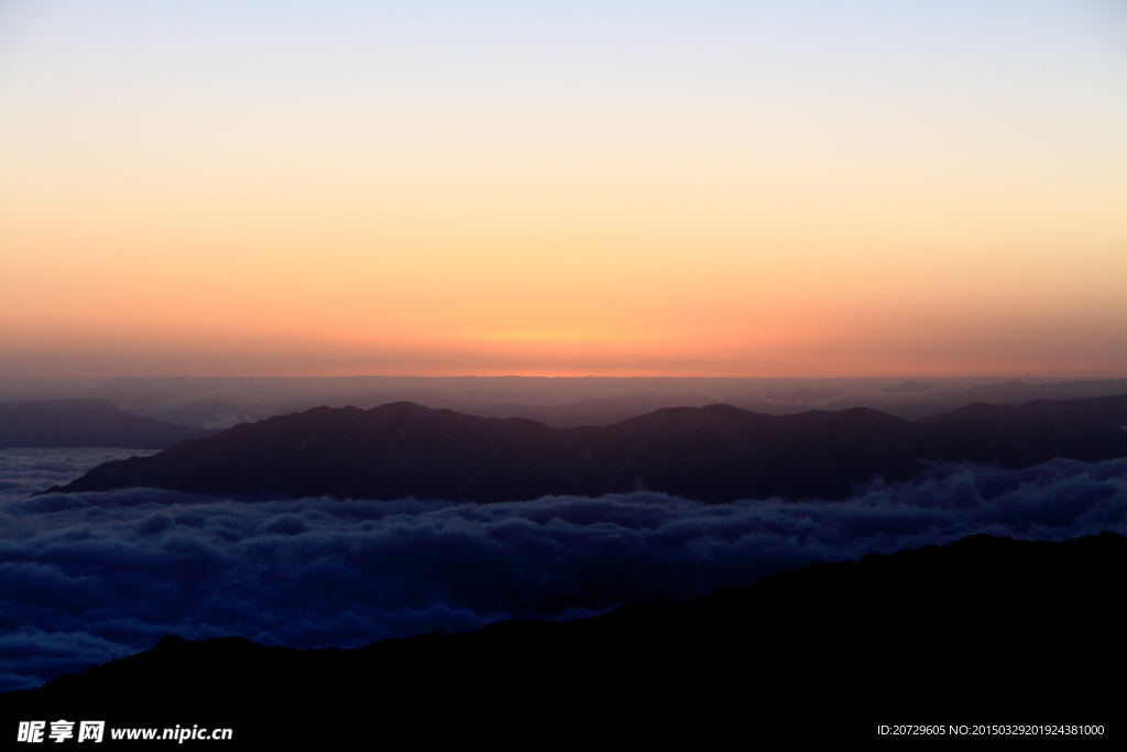
[[[27,495],[133,453],[148,452],[0,451],[0,690],[36,687],[166,634],[348,647],[690,599],[817,560],[970,533],[1127,534],[1127,459],[938,467],[845,502]]]

